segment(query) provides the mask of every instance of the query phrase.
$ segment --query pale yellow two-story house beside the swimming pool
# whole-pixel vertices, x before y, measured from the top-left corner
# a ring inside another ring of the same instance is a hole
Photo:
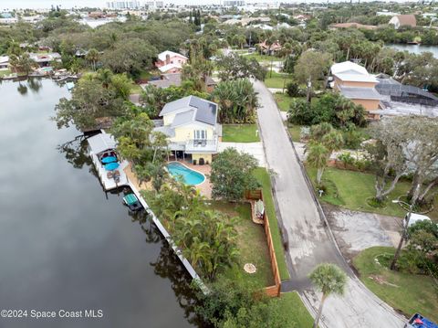
[[[217,153],[222,126],[217,123],[218,105],[195,96],[168,102],[160,112],[163,132],[176,158],[192,159],[193,164],[210,164]]]

